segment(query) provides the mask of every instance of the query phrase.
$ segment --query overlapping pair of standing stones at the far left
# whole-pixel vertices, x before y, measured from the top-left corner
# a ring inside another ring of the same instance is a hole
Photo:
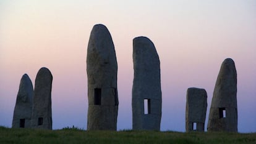
[[[52,129],[51,84],[53,76],[48,68],[36,74],[35,90],[27,74],[20,80],[12,119],[12,127]]]

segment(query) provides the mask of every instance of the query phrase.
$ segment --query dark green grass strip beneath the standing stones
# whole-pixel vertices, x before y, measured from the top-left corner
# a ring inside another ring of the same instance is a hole
[[[256,143],[256,133],[86,131],[66,127],[62,130],[10,129],[0,127],[0,143]]]

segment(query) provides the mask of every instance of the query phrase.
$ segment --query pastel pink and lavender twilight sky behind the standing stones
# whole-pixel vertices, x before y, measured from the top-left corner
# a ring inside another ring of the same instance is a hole
[[[237,70],[238,131],[256,132],[256,1],[0,1],[0,125],[11,127],[22,75],[53,74],[53,129],[87,129],[86,56],[93,25],[107,26],[118,64],[117,130],[132,129],[132,39],[147,36],[161,63],[161,130],[184,132],[186,92],[207,90],[221,63]]]

